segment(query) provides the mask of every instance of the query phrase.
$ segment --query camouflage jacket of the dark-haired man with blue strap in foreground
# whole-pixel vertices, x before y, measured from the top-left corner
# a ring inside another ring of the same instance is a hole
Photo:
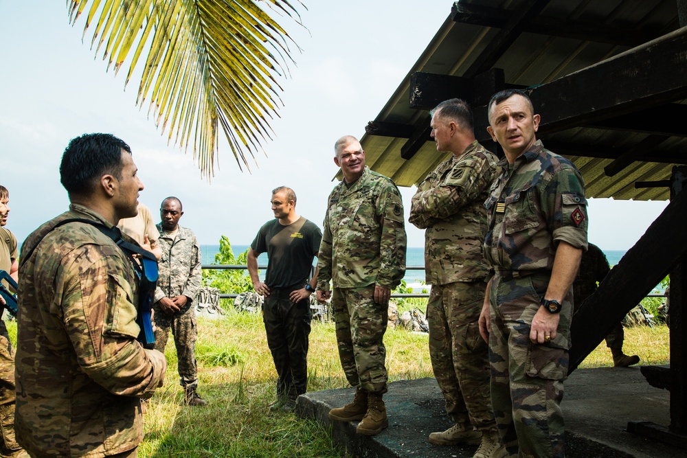
[[[71,205],[24,242],[16,347],[16,437],[32,456],[104,457],[143,439],[163,354],[136,341],[137,278],[128,257]],[[42,240],[41,240],[42,239]],[[125,236],[125,240],[133,242]]]

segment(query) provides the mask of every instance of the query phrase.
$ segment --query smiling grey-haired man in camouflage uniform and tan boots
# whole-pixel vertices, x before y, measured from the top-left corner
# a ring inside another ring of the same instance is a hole
[[[389,424],[382,400],[387,391],[382,339],[391,290],[405,274],[403,202],[393,181],[365,167],[365,152],[355,137],[341,137],[334,150],[343,181],[327,202],[317,300],[332,297],[339,358],[356,393],[352,403],[332,409],[329,417],[362,420],[357,433],[375,435]]]

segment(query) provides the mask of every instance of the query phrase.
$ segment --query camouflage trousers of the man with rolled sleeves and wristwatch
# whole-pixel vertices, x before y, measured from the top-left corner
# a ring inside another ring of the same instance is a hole
[[[549,277],[497,273],[491,285],[491,403],[511,456],[565,456],[561,400],[569,363],[572,288],[562,304],[556,338],[541,345],[530,341],[532,318]]]

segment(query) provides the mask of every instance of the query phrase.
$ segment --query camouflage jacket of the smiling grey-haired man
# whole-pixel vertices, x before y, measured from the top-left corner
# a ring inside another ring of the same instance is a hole
[[[396,288],[405,275],[401,193],[391,179],[365,167],[351,187],[329,194],[319,247],[317,289]]]

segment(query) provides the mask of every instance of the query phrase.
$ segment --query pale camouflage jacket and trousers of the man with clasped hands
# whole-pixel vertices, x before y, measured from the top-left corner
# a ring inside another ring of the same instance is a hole
[[[201,286],[201,247],[191,229],[179,226],[177,236],[170,234],[157,225],[160,238],[158,246],[162,257],[158,261],[159,277],[155,291],[155,350],[165,352],[170,329],[174,335],[174,346],[177,347],[179,383],[182,387],[198,385],[198,367],[196,365],[196,338],[198,325],[194,299]],[[159,300],[163,297],[184,295],[188,297],[185,306],[179,312],[163,312]]]

